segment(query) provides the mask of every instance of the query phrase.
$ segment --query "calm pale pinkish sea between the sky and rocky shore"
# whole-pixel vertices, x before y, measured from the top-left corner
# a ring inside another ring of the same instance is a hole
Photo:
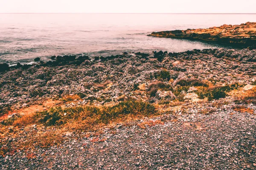
[[[153,31],[209,28],[256,22],[256,14],[0,14],[0,62],[31,62],[36,57],[123,52],[181,52],[231,48],[191,40],[149,37]]]

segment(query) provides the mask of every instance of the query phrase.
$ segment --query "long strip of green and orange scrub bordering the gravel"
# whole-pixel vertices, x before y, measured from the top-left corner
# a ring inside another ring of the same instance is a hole
[[[41,123],[45,126],[65,125],[79,130],[91,130],[99,125],[125,120],[128,117],[150,116],[156,113],[153,105],[142,101],[125,101],[111,107],[55,107],[48,111],[20,117],[5,125],[24,126]]]

